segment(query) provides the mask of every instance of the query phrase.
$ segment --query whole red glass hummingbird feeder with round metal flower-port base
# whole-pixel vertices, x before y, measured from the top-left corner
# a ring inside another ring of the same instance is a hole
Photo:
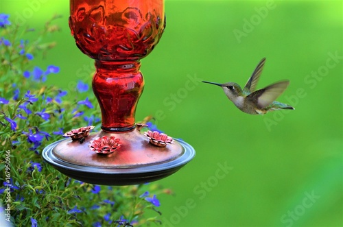
[[[135,122],[143,92],[140,60],[165,30],[163,0],[70,0],[69,27],[82,53],[95,60],[93,92],[102,130],[71,130],[43,158],[71,178],[93,184],[141,184],[165,178],[195,156],[191,145]]]

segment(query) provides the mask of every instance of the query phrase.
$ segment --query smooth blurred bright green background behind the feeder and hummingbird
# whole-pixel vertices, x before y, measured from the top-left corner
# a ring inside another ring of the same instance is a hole
[[[1,0],[10,20],[40,28],[62,14],[58,45],[34,64],[56,64],[48,84],[91,83],[93,61],[75,46],[67,0]],[[165,1],[167,28],[142,60],[137,121],[196,149],[160,180],[163,226],[343,226],[342,1]],[[288,79],[279,101],[296,110],[246,115],[221,88],[244,86],[261,58],[257,88]]]

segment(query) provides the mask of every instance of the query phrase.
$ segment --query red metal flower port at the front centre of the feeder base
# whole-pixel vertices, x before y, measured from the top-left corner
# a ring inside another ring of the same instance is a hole
[[[97,154],[111,154],[119,149],[121,146],[119,142],[120,139],[116,139],[115,136],[102,136],[93,139],[89,143],[89,148]]]

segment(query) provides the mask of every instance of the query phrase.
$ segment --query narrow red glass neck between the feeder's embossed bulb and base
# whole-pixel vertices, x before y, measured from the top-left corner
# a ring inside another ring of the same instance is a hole
[[[144,80],[141,62],[95,61],[93,91],[102,110],[102,129],[106,132],[132,130]]]

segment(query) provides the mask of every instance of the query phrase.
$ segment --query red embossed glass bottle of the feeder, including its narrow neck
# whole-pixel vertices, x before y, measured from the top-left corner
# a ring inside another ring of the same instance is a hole
[[[163,0],[70,0],[69,26],[78,48],[95,59],[93,91],[102,129],[132,130],[143,92],[140,60],[165,29]]]

